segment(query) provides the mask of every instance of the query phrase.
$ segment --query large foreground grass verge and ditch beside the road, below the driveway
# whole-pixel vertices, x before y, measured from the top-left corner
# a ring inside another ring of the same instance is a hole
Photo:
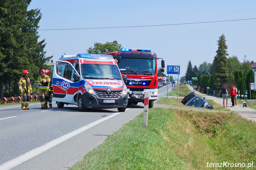
[[[69,170],[204,170],[217,169],[207,162],[256,161],[256,124],[237,114],[154,108],[147,128],[142,118],[125,124]]]

